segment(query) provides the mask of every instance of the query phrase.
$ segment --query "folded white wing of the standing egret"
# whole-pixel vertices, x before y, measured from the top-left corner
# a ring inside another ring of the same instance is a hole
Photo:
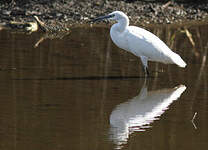
[[[129,49],[137,56],[155,59],[172,52],[163,41],[145,29],[129,26],[126,36],[128,37]]]

